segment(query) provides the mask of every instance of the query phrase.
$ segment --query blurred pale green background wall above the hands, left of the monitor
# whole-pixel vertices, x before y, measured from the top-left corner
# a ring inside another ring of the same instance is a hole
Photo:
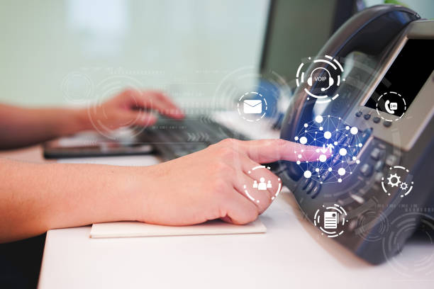
[[[0,2],[0,102],[26,106],[80,106],[100,97],[98,87],[114,93],[125,85],[163,89],[177,101],[206,101],[230,72],[259,66],[269,4]],[[400,2],[434,18],[433,0]]]

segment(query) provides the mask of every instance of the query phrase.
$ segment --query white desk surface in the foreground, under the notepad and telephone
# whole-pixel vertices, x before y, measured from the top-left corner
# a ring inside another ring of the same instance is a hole
[[[396,269],[432,254],[429,244],[372,266],[321,236],[291,193],[260,218],[266,234],[90,239],[90,226],[53,229],[39,288],[433,288],[433,273]]]

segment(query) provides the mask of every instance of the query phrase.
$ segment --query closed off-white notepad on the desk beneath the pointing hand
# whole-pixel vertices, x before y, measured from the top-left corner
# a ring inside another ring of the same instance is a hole
[[[267,228],[258,218],[247,225],[233,225],[213,220],[192,226],[160,226],[143,222],[108,222],[92,225],[91,238],[157,237],[210,234],[252,234],[265,233]]]

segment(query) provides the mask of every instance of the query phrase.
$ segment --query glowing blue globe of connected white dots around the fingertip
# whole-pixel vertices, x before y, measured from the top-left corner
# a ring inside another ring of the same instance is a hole
[[[360,134],[357,128],[350,128],[332,115],[317,115],[305,123],[294,137],[299,144],[294,149],[296,164],[303,176],[320,183],[342,182],[360,164],[357,158],[363,147]],[[318,158],[312,160],[313,155]]]

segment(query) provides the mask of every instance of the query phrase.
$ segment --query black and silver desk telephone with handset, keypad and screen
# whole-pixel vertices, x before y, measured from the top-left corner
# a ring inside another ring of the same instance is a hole
[[[319,126],[313,121],[318,115],[321,121],[331,115],[345,128],[354,128],[355,135],[335,136],[335,147],[360,142],[357,162],[347,164],[351,174],[342,181],[328,182],[332,174],[313,179],[316,162],[279,162],[278,171],[311,222],[323,205],[345,209],[345,230],[334,239],[369,263],[392,258],[417,229],[434,237],[433,51],[434,21],[420,20],[418,13],[402,6],[367,8],[350,18],[318,52],[343,65],[340,78],[345,81],[339,86],[325,81],[326,89],[339,97],[324,103],[309,94],[316,85],[321,87],[318,81],[322,80],[312,77],[318,72],[311,64],[308,81],[296,89],[286,111],[284,140],[297,140],[297,132],[307,123]],[[403,103],[392,98],[384,101],[382,96],[389,93]],[[333,159],[325,162],[333,166]],[[308,177],[301,166],[311,168]],[[391,173],[400,167],[406,169],[404,175]],[[382,183],[390,188],[384,191]],[[410,193],[403,193],[409,188]],[[324,216],[329,227],[338,222]]]

